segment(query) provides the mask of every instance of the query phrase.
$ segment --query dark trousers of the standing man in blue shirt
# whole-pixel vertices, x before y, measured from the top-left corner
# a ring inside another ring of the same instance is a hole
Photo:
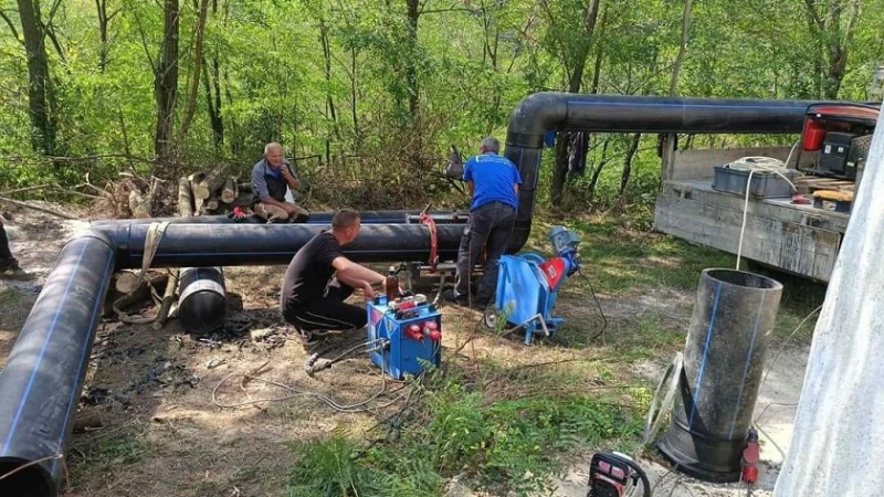
[[[516,210],[503,202],[490,202],[470,212],[470,224],[463,232],[457,252],[455,297],[470,295],[472,269],[487,247],[484,274],[472,300],[480,305],[491,302],[497,289],[497,261],[509,246],[515,222]]]

